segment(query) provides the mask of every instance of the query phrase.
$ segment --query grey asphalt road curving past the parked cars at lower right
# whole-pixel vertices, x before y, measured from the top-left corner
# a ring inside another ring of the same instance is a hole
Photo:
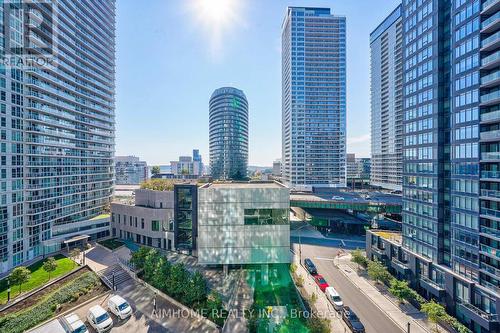
[[[293,241],[292,241],[293,242]],[[333,258],[338,248],[308,245],[302,243],[302,260],[310,258],[314,261],[318,273],[341,295],[344,304],[350,306],[365,325],[366,333],[404,333],[385,313],[371,302],[359,289],[345,278],[333,265]],[[298,244],[293,244],[298,253]]]

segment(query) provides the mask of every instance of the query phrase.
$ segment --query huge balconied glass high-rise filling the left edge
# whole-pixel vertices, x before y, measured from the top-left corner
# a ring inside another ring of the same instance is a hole
[[[0,17],[1,274],[109,234],[92,218],[113,187],[115,1],[5,2]]]

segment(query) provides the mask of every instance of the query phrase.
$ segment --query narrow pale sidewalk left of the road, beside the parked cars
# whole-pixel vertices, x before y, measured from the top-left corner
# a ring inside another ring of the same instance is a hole
[[[330,304],[330,302],[326,298],[325,293],[323,293],[319,289],[316,282],[314,282],[314,279],[312,278],[312,276],[300,264],[299,258],[295,255],[293,256],[293,263],[297,267],[297,271],[295,272],[295,274],[297,276],[300,275],[304,278],[304,288],[303,289],[305,290],[307,297],[310,299],[311,295],[313,293],[315,293],[317,296],[316,302],[314,303],[314,305],[311,304],[311,306],[314,307],[318,311],[321,318],[330,319],[330,331],[331,332],[345,332],[345,331],[349,332],[349,329],[342,321],[341,314],[333,309],[333,306]]]

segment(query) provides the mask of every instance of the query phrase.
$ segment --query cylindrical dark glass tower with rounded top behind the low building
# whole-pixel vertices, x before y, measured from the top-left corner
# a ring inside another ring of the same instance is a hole
[[[248,164],[248,102],[223,87],[210,97],[210,169],[214,179],[244,179]]]

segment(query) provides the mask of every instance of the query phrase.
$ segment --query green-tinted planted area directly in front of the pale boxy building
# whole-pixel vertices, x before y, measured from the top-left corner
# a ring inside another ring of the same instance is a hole
[[[254,303],[247,312],[250,333],[268,332],[271,321],[268,314],[274,314],[277,307],[286,308],[286,317],[274,327],[274,332],[310,332],[308,319],[300,315],[303,314],[303,309],[289,273],[289,265],[269,265],[267,282],[263,281],[262,275],[259,267],[249,270],[248,283],[254,289]]]

